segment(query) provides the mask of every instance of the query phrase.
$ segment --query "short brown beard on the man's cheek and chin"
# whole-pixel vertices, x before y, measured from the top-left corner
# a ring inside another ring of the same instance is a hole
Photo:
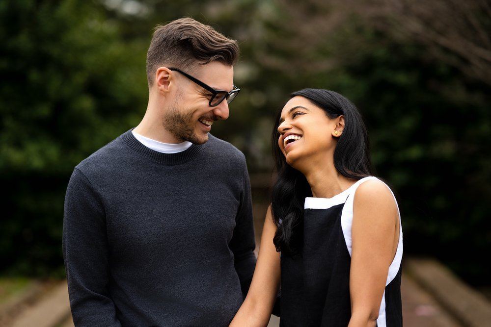
[[[208,134],[201,138],[196,134],[195,125],[199,122],[192,121],[192,110],[186,112],[179,111],[176,106],[169,107],[164,117],[164,128],[180,142],[203,144],[208,141]]]

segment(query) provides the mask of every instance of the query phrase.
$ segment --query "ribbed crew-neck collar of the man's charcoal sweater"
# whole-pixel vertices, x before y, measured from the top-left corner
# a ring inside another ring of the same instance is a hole
[[[161,153],[158,151],[154,151],[145,147],[141,144],[133,133],[131,129],[121,135],[121,140],[133,151],[141,155],[142,157],[147,158],[148,160],[163,164],[163,165],[180,165],[186,163],[193,158],[195,158],[203,148],[203,145],[193,144],[189,149],[178,152],[178,153]]]

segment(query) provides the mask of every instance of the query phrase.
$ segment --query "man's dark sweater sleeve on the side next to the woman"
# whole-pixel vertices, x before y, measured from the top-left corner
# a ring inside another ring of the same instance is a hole
[[[230,249],[234,253],[234,265],[241,282],[244,297],[249,290],[254,267],[256,265],[256,247],[254,236],[254,220],[252,216],[252,200],[249,174],[244,162],[243,189],[241,203],[236,216],[236,226],[230,241]]]

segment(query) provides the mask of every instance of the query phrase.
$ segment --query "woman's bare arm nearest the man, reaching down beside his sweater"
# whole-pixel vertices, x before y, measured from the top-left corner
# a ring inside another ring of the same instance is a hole
[[[270,206],[264,219],[261,244],[249,292],[232,320],[231,327],[268,325],[280,283],[279,252],[276,252],[273,244],[275,232],[276,225]]]

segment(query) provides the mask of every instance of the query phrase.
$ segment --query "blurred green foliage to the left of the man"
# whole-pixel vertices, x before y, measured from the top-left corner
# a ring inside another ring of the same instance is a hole
[[[73,167],[144,112],[144,49],[124,43],[103,9],[77,0],[0,3],[3,270],[40,275],[62,266]]]

